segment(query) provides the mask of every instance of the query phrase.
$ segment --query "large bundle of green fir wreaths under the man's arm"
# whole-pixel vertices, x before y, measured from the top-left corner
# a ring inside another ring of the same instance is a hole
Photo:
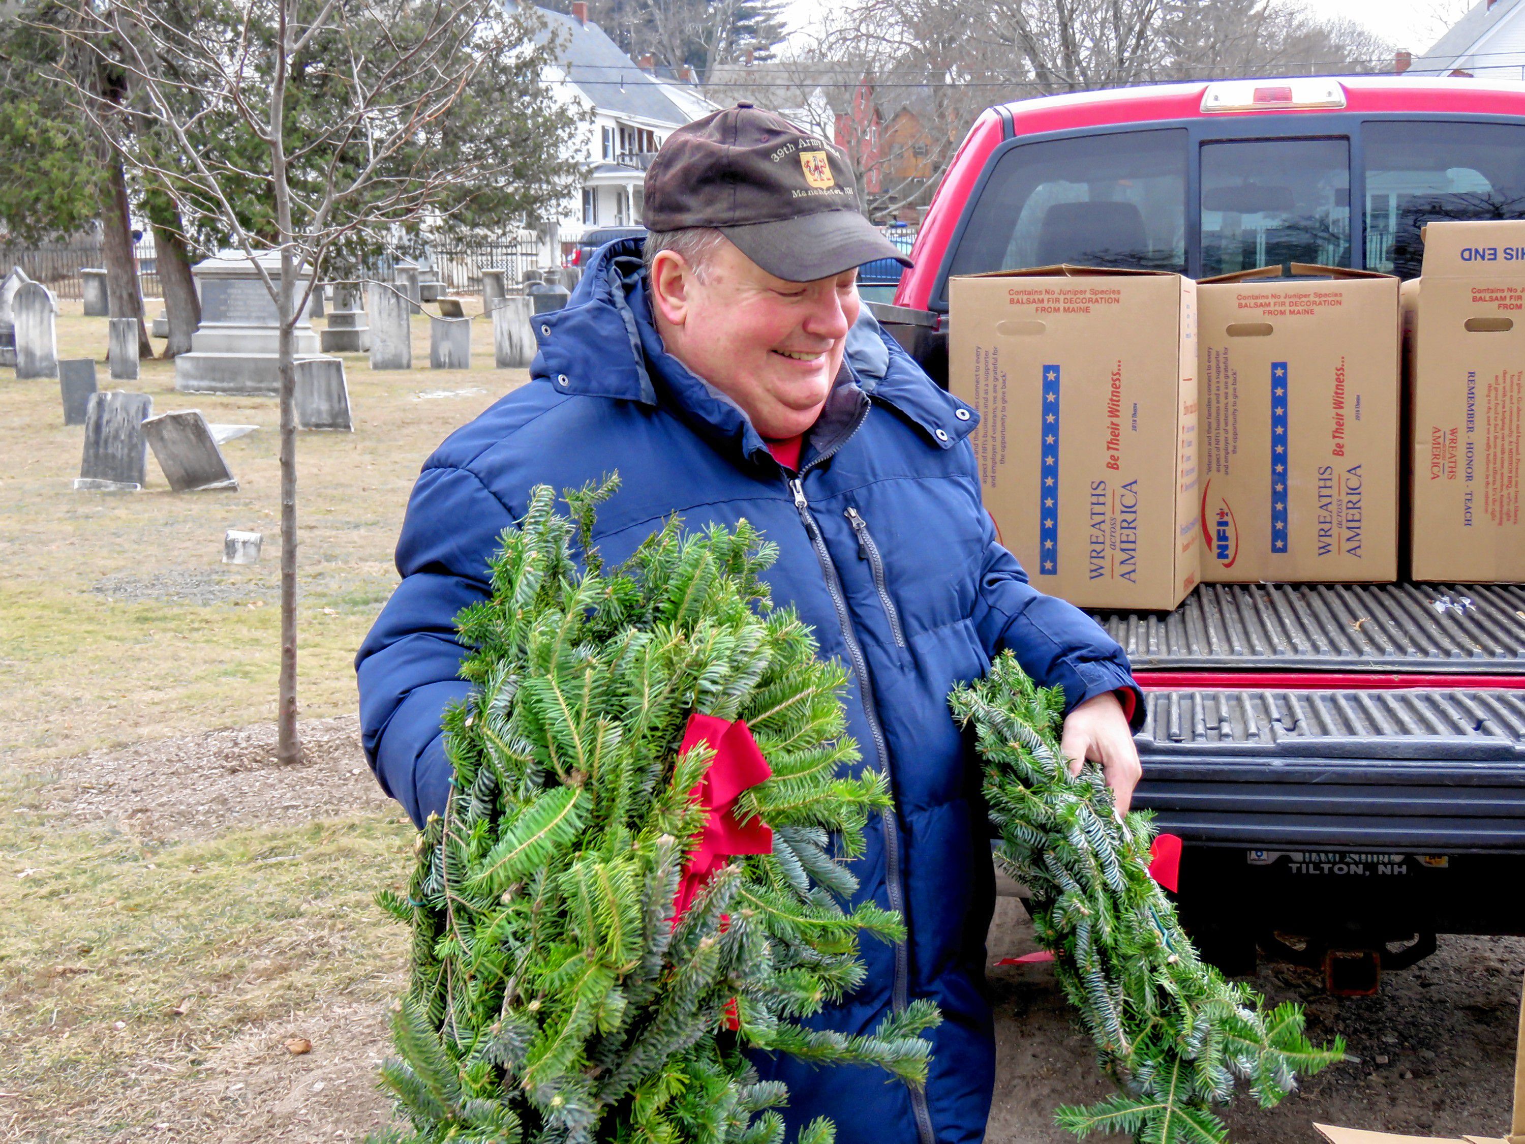
[[[779,1144],[787,1094],[744,1048],[926,1078],[930,1002],[872,1036],[798,1023],[862,981],[863,934],[903,937],[895,914],[845,908],[842,859],[889,790],[842,776],[859,758],[843,670],[770,607],[775,549],[746,522],[685,535],[671,520],[605,569],[593,513],[615,487],[569,493],[570,517],[535,488],[493,596],[458,619],[474,691],[445,714],[448,805],[407,897],[378,895],[413,930],[381,1072],[413,1133],[384,1139]],[[772,853],[688,882],[680,909],[717,757],[680,749],[695,712],[750,728],[772,776],[727,813],[766,822]],[[833,1126],[798,1139],[830,1144]]]

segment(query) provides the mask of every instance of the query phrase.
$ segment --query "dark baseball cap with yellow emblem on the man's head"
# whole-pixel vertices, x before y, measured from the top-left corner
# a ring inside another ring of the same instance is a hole
[[[813,282],[894,258],[857,207],[846,156],[784,116],[737,104],[668,136],[647,171],[647,230],[714,227],[775,278]]]

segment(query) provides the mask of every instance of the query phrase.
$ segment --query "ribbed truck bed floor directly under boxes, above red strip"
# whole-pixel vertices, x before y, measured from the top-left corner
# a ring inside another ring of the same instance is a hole
[[[1139,670],[1525,674],[1516,584],[1202,584],[1174,612],[1093,615]]]

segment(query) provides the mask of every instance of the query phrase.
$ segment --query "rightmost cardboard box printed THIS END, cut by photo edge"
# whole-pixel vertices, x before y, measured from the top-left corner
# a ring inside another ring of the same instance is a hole
[[[1426,226],[1405,304],[1412,575],[1525,580],[1525,221]]]

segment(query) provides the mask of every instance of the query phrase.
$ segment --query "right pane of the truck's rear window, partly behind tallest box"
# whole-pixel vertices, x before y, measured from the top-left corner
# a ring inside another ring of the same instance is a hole
[[[1437,220],[1525,218],[1525,127],[1369,122],[1366,268],[1420,273],[1420,227]]]

